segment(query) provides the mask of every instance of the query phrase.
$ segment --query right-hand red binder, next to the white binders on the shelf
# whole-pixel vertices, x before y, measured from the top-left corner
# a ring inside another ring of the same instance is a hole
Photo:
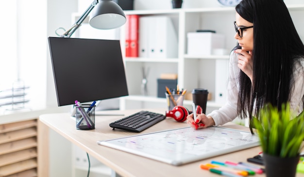
[[[138,57],[139,15],[130,15],[130,57]]]

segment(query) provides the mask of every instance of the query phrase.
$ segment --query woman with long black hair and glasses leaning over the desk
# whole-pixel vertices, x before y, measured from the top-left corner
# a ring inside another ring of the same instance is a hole
[[[293,111],[304,107],[304,45],[283,0],[242,0],[236,6],[235,38],[231,52],[227,103],[209,115],[193,114],[193,128],[218,126],[256,116],[271,103],[279,110],[290,103]],[[252,127],[251,127],[252,128]]]

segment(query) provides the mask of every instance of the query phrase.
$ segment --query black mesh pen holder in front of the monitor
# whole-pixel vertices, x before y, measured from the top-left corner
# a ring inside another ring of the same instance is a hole
[[[82,104],[76,107],[76,129],[92,130],[95,129],[95,105]]]

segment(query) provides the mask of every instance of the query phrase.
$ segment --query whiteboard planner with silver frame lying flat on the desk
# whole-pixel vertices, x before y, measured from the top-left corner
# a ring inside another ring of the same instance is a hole
[[[249,132],[223,127],[199,130],[187,127],[97,143],[172,165],[182,165],[259,146],[259,138]]]

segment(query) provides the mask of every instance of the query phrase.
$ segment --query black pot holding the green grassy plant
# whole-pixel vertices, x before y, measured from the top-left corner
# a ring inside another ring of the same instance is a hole
[[[281,158],[263,154],[266,177],[295,177],[300,156]]]

